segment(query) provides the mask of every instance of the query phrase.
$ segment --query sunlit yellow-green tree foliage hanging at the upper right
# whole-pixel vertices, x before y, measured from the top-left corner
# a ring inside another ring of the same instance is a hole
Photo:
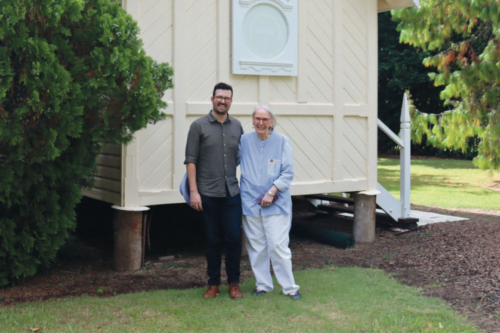
[[[423,0],[419,9],[392,12],[400,40],[434,54],[430,77],[449,110],[413,112],[412,135],[434,146],[465,151],[477,138],[474,163],[500,168],[500,5],[498,0]]]

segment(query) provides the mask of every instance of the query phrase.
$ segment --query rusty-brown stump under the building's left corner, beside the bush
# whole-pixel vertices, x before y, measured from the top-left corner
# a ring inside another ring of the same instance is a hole
[[[112,206],[113,268],[116,271],[136,271],[142,259],[142,214],[148,207]]]

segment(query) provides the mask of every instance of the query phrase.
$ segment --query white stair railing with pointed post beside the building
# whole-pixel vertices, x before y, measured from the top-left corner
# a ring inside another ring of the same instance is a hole
[[[403,95],[401,106],[401,126],[398,137],[392,132],[380,119],[378,119],[378,128],[380,128],[389,138],[399,147],[399,200],[394,198],[380,183],[377,183],[377,190],[380,191],[376,196],[376,204],[387,213],[394,221],[409,218],[410,214],[410,117],[408,98],[406,93]]]

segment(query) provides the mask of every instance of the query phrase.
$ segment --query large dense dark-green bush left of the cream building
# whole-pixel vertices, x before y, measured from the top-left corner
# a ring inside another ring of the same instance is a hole
[[[138,33],[109,0],[1,0],[0,286],[54,258],[100,145],[164,117],[172,69]]]

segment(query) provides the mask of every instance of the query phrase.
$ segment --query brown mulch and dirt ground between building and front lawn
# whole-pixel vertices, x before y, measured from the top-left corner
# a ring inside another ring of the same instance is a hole
[[[469,220],[431,224],[397,234],[380,228],[369,244],[339,249],[292,234],[290,248],[294,270],[329,265],[382,269],[400,282],[421,289],[422,294],[438,297],[476,323],[486,332],[500,327],[500,214],[498,211],[443,210],[412,206],[412,209]],[[156,212],[157,213],[157,212]],[[349,221],[339,218],[314,218],[310,212],[296,214],[297,219],[329,225],[349,231]],[[161,213],[160,213],[161,214]],[[184,229],[186,228],[183,224]],[[167,228],[175,234],[179,227]],[[205,260],[199,247],[199,235],[192,233],[187,247],[173,242],[163,248],[148,250],[147,265],[137,272],[112,270],[112,249],[102,239],[86,238],[72,242],[50,268],[28,278],[24,283],[0,289],[0,304],[45,301],[79,295],[112,296],[116,294],[161,289],[203,287],[206,283]],[[199,226],[198,226],[199,229]],[[102,230],[101,230],[102,231]],[[159,231],[159,239],[169,240]],[[102,234],[105,234],[102,231]],[[185,235],[184,235],[185,236]],[[109,241],[109,238],[107,239]],[[158,240],[156,240],[158,242]],[[69,242],[71,243],[71,242]],[[193,245],[198,244],[198,246]],[[104,246],[103,246],[104,245]],[[157,251],[154,252],[153,250]],[[173,255],[170,261],[159,256]],[[241,261],[242,282],[252,278],[247,258]]]

